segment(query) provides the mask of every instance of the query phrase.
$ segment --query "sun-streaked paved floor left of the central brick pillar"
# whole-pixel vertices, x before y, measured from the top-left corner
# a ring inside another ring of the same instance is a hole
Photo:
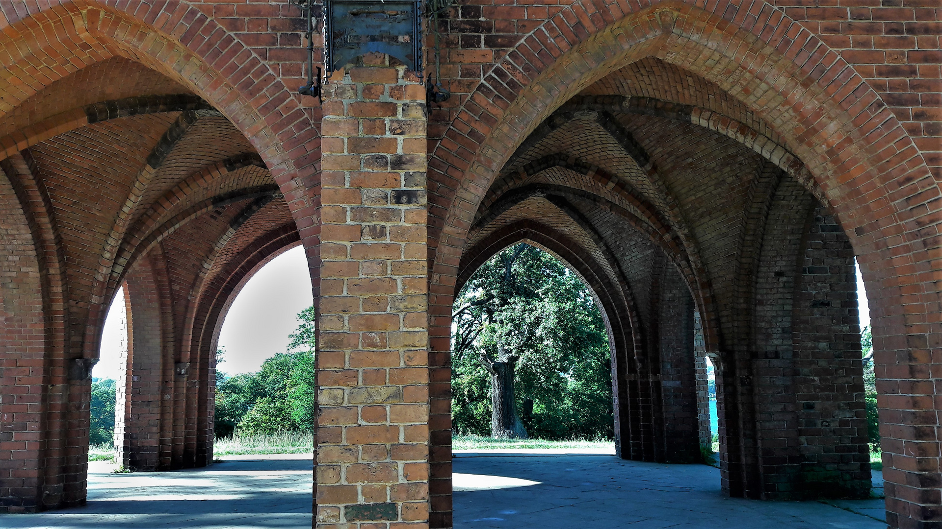
[[[88,505],[0,515],[0,528],[310,529],[314,463],[295,456],[163,473],[112,473],[92,461]]]

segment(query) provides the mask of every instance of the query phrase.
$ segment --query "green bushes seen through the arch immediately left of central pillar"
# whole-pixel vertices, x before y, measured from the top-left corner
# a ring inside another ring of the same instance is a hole
[[[288,352],[262,363],[258,373],[216,374],[216,437],[314,430],[314,308],[298,314]],[[217,351],[217,361],[224,351]]]

